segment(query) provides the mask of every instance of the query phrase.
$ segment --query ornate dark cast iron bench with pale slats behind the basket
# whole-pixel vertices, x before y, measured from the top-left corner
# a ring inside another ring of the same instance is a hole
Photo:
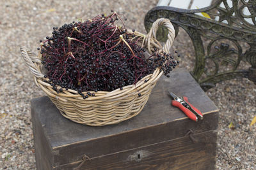
[[[196,0],[180,1],[182,8],[193,10],[172,7],[175,1],[160,0],[161,6],[152,8],[145,16],[145,28],[149,31],[155,20],[168,18],[174,24],[176,36],[179,27],[188,33],[195,49],[191,75],[202,89],[206,91],[220,81],[234,78],[248,78],[256,84],[256,1],[205,0],[211,4],[205,8]],[[204,17],[205,13],[211,18]],[[164,41],[164,28],[157,33]],[[251,66],[244,68],[241,61]]]

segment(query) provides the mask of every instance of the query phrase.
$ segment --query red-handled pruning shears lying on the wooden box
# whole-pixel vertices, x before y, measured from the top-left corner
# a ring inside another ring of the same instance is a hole
[[[172,106],[182,110],[187,115],[187,117],[194,120],[195,122],[198,121],[198,118],[200,118],[200,120],[203,119],[201,111],[188,102],[188,97],[179,97],[173,94],[173,92],[169,92],[169,94],[173,98]]]

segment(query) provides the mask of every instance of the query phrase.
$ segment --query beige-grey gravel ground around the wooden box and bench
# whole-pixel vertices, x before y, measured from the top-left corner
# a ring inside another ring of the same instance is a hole
[[[143,2],[143,3],[142,3]],[[77,18],[92,18],[111,9],[128,18],[127,25],[144,32],[143,19],[154,1],[0,1],[0,169],[35,169],[35,150],[29,101],[44,96],[20,57],[19,47],[36,51],[38,40],[51,35],[53,26]],[[193,49],[184,32],[174,48],[181,67],[191,70]],[[247,66],[247,65],[244,65]],[[207,95],[220,108],[216,169],[253,169],[256,164],[256,85],[248,80],[219,83]],[[234,129],[229,129],[232,122]]]

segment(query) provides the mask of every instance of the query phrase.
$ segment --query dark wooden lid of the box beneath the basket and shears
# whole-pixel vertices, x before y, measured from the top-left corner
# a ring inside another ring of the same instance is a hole
[[[171,106],[168,90],[187,96],[202,111],[204,120],[193,122]],[[120,124],[104,127],[76,124],[63,117],[48,97],[33,99],[31,114],[34,134],[45,138],[44,145],[51,152],[47,155],[53,166],[79,161],[84,154],[100,157],[181,138],[189,129],[200,133],[218,126],[218,109],[185,69],[176,69],[170,78],[162,76],[143,111]]]

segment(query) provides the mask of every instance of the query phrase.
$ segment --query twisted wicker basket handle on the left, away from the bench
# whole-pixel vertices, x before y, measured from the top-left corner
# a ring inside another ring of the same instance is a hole
[[[44,74],[42,74],[39,67],[41,60],[38,57],[33,57],[33,53],[27,50],[24,46],[20,47],[20,53],[34,76],[37,78],[43,78]]]

